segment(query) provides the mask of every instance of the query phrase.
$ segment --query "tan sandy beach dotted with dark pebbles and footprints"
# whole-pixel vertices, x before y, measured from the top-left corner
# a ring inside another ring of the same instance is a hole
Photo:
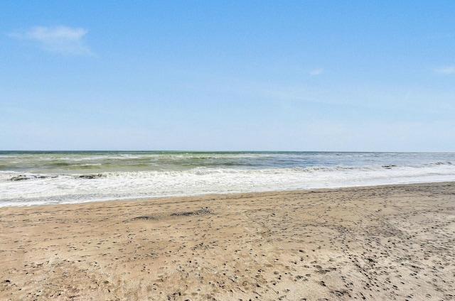
[[[0,209],[0,300],[454,300],[455,183]]]

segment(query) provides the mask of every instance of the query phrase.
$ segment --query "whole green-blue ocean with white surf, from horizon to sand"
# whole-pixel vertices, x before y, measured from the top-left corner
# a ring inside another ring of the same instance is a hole
[[[455,153],[0,151],[0,207],[455,180]]]

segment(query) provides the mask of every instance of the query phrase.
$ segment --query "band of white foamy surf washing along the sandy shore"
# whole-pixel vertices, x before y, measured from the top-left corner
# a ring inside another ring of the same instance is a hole
[[[235,192],[455,181],[451,161],[308,168],[207,168],[84,174],[0,172],[0,207]]]

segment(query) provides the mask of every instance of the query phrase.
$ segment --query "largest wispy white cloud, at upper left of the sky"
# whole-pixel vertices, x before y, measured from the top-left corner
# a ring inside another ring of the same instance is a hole
[[[30,40],[41,49],[63,55],[93,55],[92,50],[85,44],[84,28],[66,26],[45,27],[36,26],[27,31],[15,31],[9,36],[20,40]]]

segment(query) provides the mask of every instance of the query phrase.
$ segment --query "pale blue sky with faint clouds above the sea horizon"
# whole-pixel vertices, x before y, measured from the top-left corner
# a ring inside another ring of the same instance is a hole
[[[1,1],[0,149],[455,151],[455,1]]]

